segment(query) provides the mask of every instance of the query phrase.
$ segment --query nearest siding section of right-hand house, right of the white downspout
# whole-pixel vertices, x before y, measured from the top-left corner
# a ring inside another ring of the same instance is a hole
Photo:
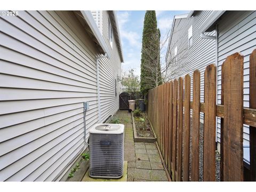
[[[218,104],[221,102],[221,65],[228,55],[244,55],[244,107],[249,107],[249,56],[256,49],[256,12],[227,11],[218,23]],[[220,119],[217,120],[220,142]],[[249,126],[244,125],[244,146],[249,146]]]

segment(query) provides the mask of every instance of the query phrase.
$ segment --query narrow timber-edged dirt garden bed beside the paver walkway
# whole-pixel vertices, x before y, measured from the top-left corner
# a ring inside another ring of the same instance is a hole
[[[155,142],[156,136],[148,120],[146,112],[140,111],[140,115],[132,112],[132,124],[135,142]]]

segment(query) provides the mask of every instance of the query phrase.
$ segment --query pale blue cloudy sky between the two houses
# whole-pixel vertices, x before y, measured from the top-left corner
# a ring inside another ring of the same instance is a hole
[[[167,32],[172,27],[174,15],[188,12],[156,11],[157,27],[161,31],[161,38],[166,38]],[[140,76],[142,31],[146,11],[116,11],[116,13],[123,47],[124,63],[122,68],[123,70],[134,68],[135,74]]]

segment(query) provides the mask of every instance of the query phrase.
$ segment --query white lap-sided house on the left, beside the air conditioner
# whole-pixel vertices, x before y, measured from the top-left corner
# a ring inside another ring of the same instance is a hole
[[[59,181],[118,110],[121,39],[102,15],[100,28],[90,11],[0,17],[0,181]]]

